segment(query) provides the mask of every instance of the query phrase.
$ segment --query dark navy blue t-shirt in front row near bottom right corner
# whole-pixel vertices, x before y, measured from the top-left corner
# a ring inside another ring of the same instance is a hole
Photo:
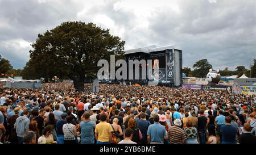
[[[237,128],[233,125],[222,125],[221,126],[222,141],[233,142],[237,140]]]

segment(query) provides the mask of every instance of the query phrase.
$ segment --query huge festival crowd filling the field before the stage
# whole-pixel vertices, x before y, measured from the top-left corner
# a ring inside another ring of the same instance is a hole
[[[1,143],[256,144],[256,96],[71,82],[0,88]]]

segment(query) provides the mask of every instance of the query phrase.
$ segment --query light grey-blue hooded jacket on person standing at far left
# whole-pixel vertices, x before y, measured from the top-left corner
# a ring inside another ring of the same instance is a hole
[[[19,116],[16,119],[14,128],[16,129],[16,133],[18,137],[23,137],[24,132],[27,131],[29,124],[30,124],[30,119],[28,119],[27,116]]]

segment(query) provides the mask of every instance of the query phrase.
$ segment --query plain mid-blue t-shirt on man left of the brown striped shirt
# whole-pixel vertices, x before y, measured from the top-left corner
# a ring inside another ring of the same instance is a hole
[[[147,136],[150,136],[151,142],[163,143],[164,136],[167,136],[166,128],[164,128],[160,123],[155,122],[154,124],[149,125],[147,129]]]

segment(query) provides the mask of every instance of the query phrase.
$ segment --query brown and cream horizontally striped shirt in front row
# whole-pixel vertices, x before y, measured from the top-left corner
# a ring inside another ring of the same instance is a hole
[[[182,141],[187,138],[183,129],[172,126],[168,130],[168,139],[170,144],[182,144]]]

